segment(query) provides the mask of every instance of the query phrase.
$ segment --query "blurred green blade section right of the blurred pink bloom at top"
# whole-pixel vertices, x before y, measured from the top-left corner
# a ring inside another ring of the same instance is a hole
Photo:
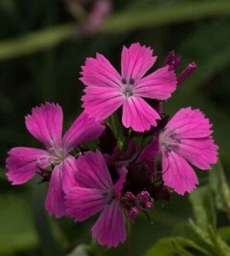
[[[175,3],[159,8],[148,8],[142,12],[136,9],[114,15],[104,24],[103,32],[127,32],[141,27],[171,25],[185,20],[198,20],[207,16],[229,15],[229,13],[228,1]]]

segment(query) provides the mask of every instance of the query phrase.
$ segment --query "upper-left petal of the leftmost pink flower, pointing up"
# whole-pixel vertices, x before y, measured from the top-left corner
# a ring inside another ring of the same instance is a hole
[[[26,116],[26,127],[48,149],[60,147],[63,113],[58,104],[46,102]]]

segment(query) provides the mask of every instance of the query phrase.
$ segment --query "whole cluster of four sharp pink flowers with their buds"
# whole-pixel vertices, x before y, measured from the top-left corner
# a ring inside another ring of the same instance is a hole
[[[82,222],[101,212],[92,236],[107,247],[124,242],[128,223],[141,212],[149,217],[155,201],[192,192],[198,177],[191,165],[208,170],[217,160],[204,113],[182,108],[170,118],[162,110],[196,65],[176,75],[181,56],[172,51],[147,74],[156,60],[141,44],[124,47],[121,73],[103,55],[88,58],[80,78],[83,113],[62,136],[58,104],[33,108],[26,128],[45,149],[12,148],[6,160],[12,184],[35,175],[49,184],[45,206],[56,218]],[[87,143],[95,139],[93,151]]]

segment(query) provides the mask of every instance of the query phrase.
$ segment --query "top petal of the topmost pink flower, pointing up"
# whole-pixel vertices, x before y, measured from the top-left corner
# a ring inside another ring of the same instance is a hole
[[[135,84],[144,76],[157,60],[152,56],[152,49],[141,44],[131,44],[127,49],[125,46],[122,51],[122,77],[129,83],[134,79]]]

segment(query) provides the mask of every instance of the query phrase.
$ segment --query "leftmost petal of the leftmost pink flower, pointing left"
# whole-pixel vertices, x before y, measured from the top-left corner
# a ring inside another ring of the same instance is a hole
[[[7,177],[12,184],[26,183],[40,168],[49,166],[49,152],[37,148],[18,147],[9,151]]]

